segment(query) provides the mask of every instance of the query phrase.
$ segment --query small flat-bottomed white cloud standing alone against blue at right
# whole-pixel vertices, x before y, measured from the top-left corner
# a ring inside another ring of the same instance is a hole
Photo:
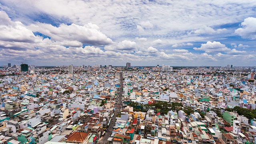
[[[229,52],[231,49],[227,48],[225,44],[220,42],[206,42],[206,44],[201,44],[200,48],[193,48],[194,50],[203,50],[206,53],[219,53],[219,52]]]

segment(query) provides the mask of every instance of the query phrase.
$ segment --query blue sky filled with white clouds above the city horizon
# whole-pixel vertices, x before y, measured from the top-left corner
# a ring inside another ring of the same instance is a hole
[[[256,66],[256,0],[0,0],[0,65]]]

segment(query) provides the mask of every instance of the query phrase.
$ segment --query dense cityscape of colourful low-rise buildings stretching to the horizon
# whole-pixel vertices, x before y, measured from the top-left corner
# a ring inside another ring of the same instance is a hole
[[[0,68],[8,144],[253,144],[256,68]]]

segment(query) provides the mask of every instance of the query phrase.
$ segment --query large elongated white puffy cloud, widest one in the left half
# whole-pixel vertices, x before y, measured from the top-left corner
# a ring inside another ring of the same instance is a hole
[[[51,24],[37,23],[28,26],[33,32],[40,32],[46,36],[50,36],[52,40],[75,40],[82,44],[92,45],[109,45],[112,40],[105,34],[100,32],[100,28],[96,24],[88,23],[84,26],[76,24],[61,24],[59,27]]]

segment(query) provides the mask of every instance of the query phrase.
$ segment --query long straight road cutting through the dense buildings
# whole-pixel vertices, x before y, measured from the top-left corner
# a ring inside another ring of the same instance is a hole
[[[118,92],[118,101],[117,101],[117,104],[116,104],[116,110],[115,110],[114,116],[113,116],[113,118],[112,118],[112,120],[111,120],[111,122],[108,126],[109,132],[106,131],[105,136],[103,136],[102,138],[100,138],[100,140],[98,140],[98,143],[100,143],[100,144],[107,143],[108,138],[112,134],[114,124],[116,123],[116,116],[117,116],[118,112],[120,112],[120,109],[121,109],[122,94],[123,94],[123,73],[121,72],[120,73],[120,89],[119,89],[119,92]]]

